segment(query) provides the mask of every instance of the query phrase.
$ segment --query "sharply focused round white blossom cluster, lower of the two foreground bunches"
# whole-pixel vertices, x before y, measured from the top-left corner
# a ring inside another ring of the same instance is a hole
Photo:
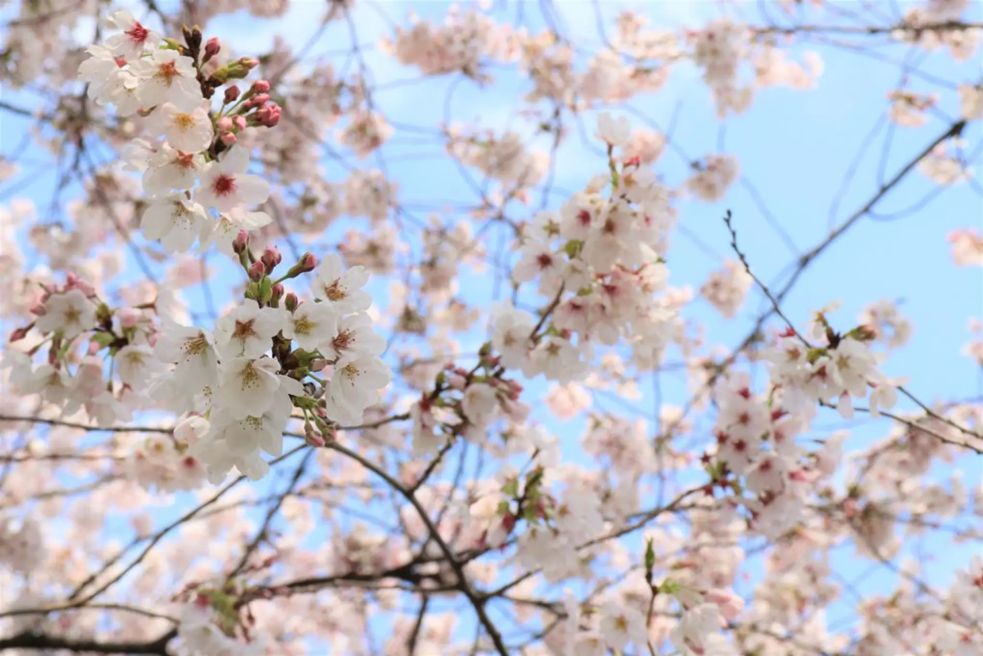
[[[150,393],[175,412],[207,418],[185,421],[197,424],[188,426],[194,436],[188,453],[204,463],[212,482],[232,467],[261,478],[268,465],[260,451],[282,454],[295,407],[303,412],[305,439],[322,446],[334,426],[360,423],[390,380],[378,357],[385,342],[365,312],[372,297],[362,289],[364,268],[344,270],[333,255],[315,268],[307,255],[274,280],[275,249],[247,267],[245,233],[234,248],[252,280],[241,305],[213,331],[167,325],[154,345],[157,357],[174,368]],[[309,271],[315,299],[300,302],[282,281]],[[321,372],[330,377],[320,379]]]

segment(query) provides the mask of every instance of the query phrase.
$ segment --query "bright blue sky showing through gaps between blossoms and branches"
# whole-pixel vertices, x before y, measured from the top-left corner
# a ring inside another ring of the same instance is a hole
[[[495,5],[498,8],[496,17],[514,21],[518,6],[508,3],[502,8],[503,4]],[[596,47],[598,42],[595,11],[601,11],[609,18],[616,7],[632,6],[631,3],[613,2],[555,4],[567,34],[587,49]],[[634,4],[642,7],[653,23],[669,29],[684,24],[699,25],[706,17],[718,15],[716,3],[710,2]],[[218,34],[223,39],[229,35],[231,44],[244,55],[264,51],[272,40],[272,34],[277,32],[289,34],[290,42],[300,44],[306,42],[317,29],[320,7],[319,2],[296,2],[285,18],[263,21],[261,24],[244,15],[223,17],[209,27],[207,35]],[[384,2],[363,6],[356,13],[359,41],[374,43],[387,30],[387,21],[380,15],[382,12],[392,21],[405,25],[411,9],[424,18],[439,20],[445,13],[446,4]],[[747,18],[760,23],[755,5],[742,6],[742,9]],[[968,16],[968,20],[983,18],[983,6],[973,5],[972,12],[977,16]],[[531,31],[544,27],[536,3],[525,3],[522,17]],[[828,24],[829,20],[821,17],[815,22]],[[84,28],[80,28],[80,31]],[[324,32],[318,46],[311,49],[309,59],[326,51],[344,51],[349,42],[347,26],[344,23],[334,24]],[[681,203],[679,224],[685,234],[677,233],[673,239],[674,248],[668,258],[671,284],[690,285],[698,289],[707,275],[720,267],[722,258],[734,257],[729,252],[729,235],[722,220],[724,210],[730,209],[740,246],[753,270],[773,287],[781,287],[781,276],[787,274],[789,264],[794,263],[798,255],[822,242],[831,225],[838,225],[872,196],[882,182],[881,169],[887,171],[890,178],[914,153],[924,149],[945,131],[945,119],[933,117],[926,127],[896,127],[889,135],[883,117],[888,109],[886,95],[896,89],[900,77],[897,63],[886,63],[823,44],[796,48],[793,52],[800,55],[807,49],[817,50],[825,62],[826,71],[818,89],[765,89],[759,93],[746,115],[730,117],[726,121],[725,130],[715,115],[709,91],[699,82],[698,74],[692,68],[681,67],[658,94],[639,96],[629,103],[634,109],[632,113],[647,116],[663,129],[672,124],[673,141],[688,158],[721,151],[736,154],[743,179],[760,198],[759,203],[748,187],[739,183],[719,204]],[[896,45],[879,46],[876,52],[881,59],[888,58],[893,62],[900,62],[907,55],[903,47]],[[376,104],[390,121],[397,124],[396,137],[386,145],[383,153],[390,177],[400,185],[400,201],[410,207],[433,203],[434,199],[447,204],[473,202],[474,194],[468,183],[441,154],[439,144],[428,139],[428,135],[434,133],[437,123],[444,117],[445,107],[449,107],[449,115],[454,120],[499,130],[521,128],[522,119],[516,115],[516,110],[521,107],[517,98],[525,89],[524,83],[514,73],[496,69],[492,73],[498,84],[489,89],[478,89],[467,82],[454,83],[446,78],[404,85],[400,82],[412,79],[414,71],[395,64],[373,49],[367,48],[365,57],[373,71],[375,85],[380,88],[374,96]],[[344,55],[333,56],[332,59],[337,67],[345,65]],[[976,82],[981,74],[978,59],[957,65],[948,54],[935,53],[927,57],[919,55],[915,61],[923,73],[954,84]],[[352,62],[348,66],[349,70],[354,70],[351,68],[354,66]],[[454,85],[454,94],[452,100],[445,104],[444,98],[451,85]],[[954,89],[940,87],[918,77],[912,77],[906,89],[936,91],[941,96],[941,112],[949,117],[957,114]],[[9,89],[3,90],[3,99],[21,106],[29,106],[32,102],[29,95]],[[589,141],[593,134],[592,116],[588,113],[584,118]],[[850,162],[879,122],[882,122],[882,128],[878,136],[840,194]],[[0,152],[9,153],[16,148],[27,125],[22,119],[3,115],[0,119]],[[964,134],[966,152],[974,156],[977,169],[981,137],[980,123],[971,124]],[[890,143],[890,149],[885,147],[886,143]],[[542,138],[538,146],[541,149],[549,148]],[[555,178],[557,191],[576,191],[592,174],[603,170],[604,161],[599,158],[596,149],[597,144],[582,143],[577,137],[560,149]],[[29,149],[28,156],[37,161],[43,160],[43,153],[37,149]],[[376,165],[376,158],[365,162],[349,158],[349,161],[361,166]],[[336,163],[325,160],[324,166],[332,181],[340,182],[344,178],[344,170]],[[687,166],[687,158],[666,149],[656,168],[669,184],[677,185],[686,178]],[[24,168],[30,174],[31,167],[26,165]],[[480,180],[477,173],[473,175]],[[28,197],[43,210],[47,207],[55,180],[53,172],[37,176],[29,187],[12,196]],[[15,179],[6,183],[5,187],[12,189],[18,185]],[[877,211],[887,216],[901,212],[919,204],[933,193],[935,187],[918,172],[912,172],[884,199]],[[831,205],[838,195],[838,209],[833,212]],[[959,354],[970,336],[967,319],[983,316],[983,278],[979,268],[954,267],[950,244],[946,240],[948,233],[956,228],[981,226],[983,200],[970,185],[947,189],[931,198],[928,205],[896,219],[861,219],[808,268],[782,306],[786,316],[801,325],[814,310],[838,299],[843,305],[833,320],[840,327],[851,328],[866,304],[881,298],[903,299],[901,309],[914,322],[914,333],[905,348],[892,353],[884,369],[891,376],[910,377],[908,388],[926,402],[983,394],[979,368]],[[561,200],[559,194],[553,196],[550,207],[555,207]],[[8,201],[9,192],[0,188],[0,203]],[[537,202],[533,207],[538,205]],[[796,246],[795,252],[771,227],[761,206],[767,208],[781,224]],[[532,209],[515,207],[510,215],[525,218]],[[421,210],[417,213],[425,218],[428,212]],[[459,215],[444,215],[442,218],[445,223],[450,223],[459,220]],[[363,222],[341,220],[312,249],[319,256],[332,249],[345,230],[364,225]],[[695,236],[699,244],[687,235]],[[492,237],[490,245],[496,244],[496,239]],[[414,244],[417,250],[418,246]],[[231,269],[225,269],[216,277],[214,287],[219,306],[227,300],[227,292],[221,291],[223,283],[232,280],[234,275]],[[495,296],[495,286],[484,273],[465,272],[460,286],[463,290],[460,297],[472,305],[487,307]],[[386,305],[386,288],[386,282],[374,283],[380,307]],[[200,300],[201,293],[192,292],[189,298]],[[527,305],[542,305],[545,301],[532,294],[524,296],[522,300]],[[686,316],[706,327],[709,343],[732,348],[746,334],[757,313],[766,308],[767,300],[754,290],[740,315],[732,321],[722,321],[716,310],[699,300],[686,310]],[[482,335],[477,333],[469,337],[473,337],[473,341],[462,341],[465,352],[473,351],[482,340]],[[682,378],[671,373],[665,374],[661,388],[665,403],[682,405],[689,395]],[[535,398],[545,390],[546,386],[542,383],[532,383],[527,387],[527,398]],[[647,386],[643,397],[633,401],[633,404],[644,412],[651,412],[653,399]],[[901,405],[904,406],[903,403]],[[561,436],[565,443],[564,450],[570,457],[578,457],[576,443],[581,436],[581,422],[560,424],[539,411],[534,416]],[[701,426],[706,428],[710,421],[704,419]],[[835,413],[827,413],[821,414],[816,424],[814,437],[821,438],[824,435],[820,430],[822,427],[840,426],[842,422]],[[847,446],[862,447],[882,437],[886,428],[884,422],[859,426]],[[956,463],[956,466],[963,469],[967,485],[979,485],[978,461],[966,459]],[[179,511],[180,507],[179,504],[173,510]],[[926,571],[924,577],[942,584],[951,576],[953,567],[965,563],[971,555],[968,548],[954,550],[948,543],[937,540],[926,542],[924,547],[938,557],[936,566]],[[850,577],[866,566],[855,561],[849,550],[846,552],[837,557],[837,564],[842,575]],[[748,570],[757,571],[757,566],[749,564]],[[889,578],[883,573],[866,578],[861,589],[883,589]],[[838,610],[839,614],[831,610],[831,621],[850,615],[847,608]],[[380,630],[384,632],[384,627],[380,627]]]

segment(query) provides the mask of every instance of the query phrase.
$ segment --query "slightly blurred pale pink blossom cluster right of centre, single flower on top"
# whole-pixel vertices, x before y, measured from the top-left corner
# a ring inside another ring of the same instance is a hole
[[[675,221],[668,191],[637,158],[615,156],[628,143],[626,119],[603,114],[598,136],[607,144],[609,172],[562,209],[537,214],[520,240],[512,276],[535,282],[553,299],[549,327],[540,334],[534,317],[510,305],[492,315],[502,365],[529,378],[579,378],[595,344],[619,339],[631,345],[640,368],[653,367],[675,328],[657,294],[665,289],[663,254]]]

